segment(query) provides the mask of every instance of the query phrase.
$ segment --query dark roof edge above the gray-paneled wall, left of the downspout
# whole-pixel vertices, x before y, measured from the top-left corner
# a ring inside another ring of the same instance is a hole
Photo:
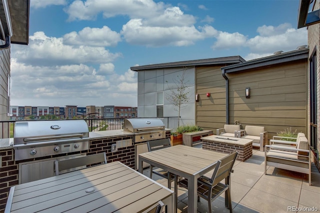
[[[167,67],[177,67],[177,66],[199,66],[199,65],[213,65],[213,64],[221,64],[221,63],[241,63],[243,61],[245,60],[241,56],[236,55],[236,56],[228,56],[228,57],[215,57],[215,58],[206,58],[206,59],[197,59],[197,60],[185,60],[185,61],[177,61],[177,62],[131,66],[130,69],[133,71],[138,71],[142,69],[167,68]]]

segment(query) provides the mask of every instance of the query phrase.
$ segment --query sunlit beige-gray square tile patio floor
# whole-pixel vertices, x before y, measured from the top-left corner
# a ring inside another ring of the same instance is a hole
[[[197,147],[201,148],[201,144]],[[307,174],[299,172],[268,166],[267,175],[264,175],[264,152],[253,149],[252,153],[252,157],[244,162],[236,161],[233,166],[233,212],[288,212],[288,206],[316,207],[320,211],[320,173],[313,163],[309,185]],[[148,169],[143,173],[148,176]],[[155,174],[152,178],[167,185],[166,179],[160,179]],[[174,190],[173,182],[171,189]],[[224,206],[224,193],[211,206],[212,212],[229,212]],[[177,207],[178,212],[187,212],[187,190],[181,187],[178,187]],[[207,212],[207,208],[207,201],[200,198],[197,212]]]

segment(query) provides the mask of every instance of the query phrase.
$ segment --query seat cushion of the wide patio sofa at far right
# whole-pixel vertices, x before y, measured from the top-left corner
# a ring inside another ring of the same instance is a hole
[[[270,150],[266,153],[266,161],[308,168],[307,159],[298,159],[297,155],[293,153],[283,150],[281,152]]]

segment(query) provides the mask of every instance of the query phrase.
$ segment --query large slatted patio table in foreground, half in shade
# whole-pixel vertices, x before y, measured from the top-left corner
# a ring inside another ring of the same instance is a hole
[[[12,186],[4,212],[147,212],[158,203],[173,212],[173,201],[172,190],[114,161]]]

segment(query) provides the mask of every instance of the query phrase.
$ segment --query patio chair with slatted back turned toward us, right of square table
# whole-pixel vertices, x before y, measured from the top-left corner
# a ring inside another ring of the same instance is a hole
[[[213,174],[210,177],[201,176],[198,178],[197,183],[197,195],[198,201],[199,197],[202,197],[208,201],[208,211],[211,212],[211,202],[218,198],[224,191],[225,195],[225,206],[229,208],[229,211],[232,212],[232,201],[231,201],[231,192],[230,192],[230,172],[233,172],[232,166],[236,159],[238,152],[235,151],[222,159],[216,162]],[[225,179],[225,183],[220,181]],[[188,180],[182,179],[179,181],[179,185],[187,188]]]

